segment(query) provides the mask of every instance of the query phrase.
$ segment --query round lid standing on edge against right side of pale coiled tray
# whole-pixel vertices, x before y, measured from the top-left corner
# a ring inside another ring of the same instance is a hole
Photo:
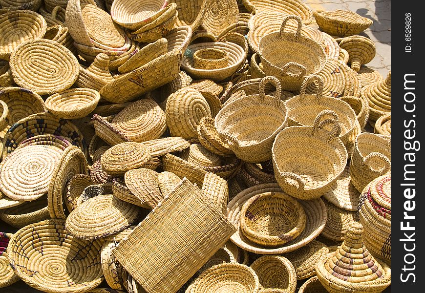
[[[76,174],[88,174],[87,160],[81,149],[77,146],[70,146],[65,149],[58,160],[49,183],[47,203],[52,219],[66,217],[63,201],[66,194],[66,183]]]

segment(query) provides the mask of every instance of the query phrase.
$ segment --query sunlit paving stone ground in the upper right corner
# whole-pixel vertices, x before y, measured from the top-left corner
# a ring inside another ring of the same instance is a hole
[[[312,10],[351,10],[373,21],[362,35],[376,45],[376,56],[368,67],[385,77],[391,70],[391,0],[302,0]]]

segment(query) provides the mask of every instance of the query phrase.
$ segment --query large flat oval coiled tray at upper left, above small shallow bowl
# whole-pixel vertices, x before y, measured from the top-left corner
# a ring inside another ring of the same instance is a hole
[[[71,51],[46,39],[24,42],[10,56],[15,83],[43,95],[69,88],[78,78],[78,68]]]

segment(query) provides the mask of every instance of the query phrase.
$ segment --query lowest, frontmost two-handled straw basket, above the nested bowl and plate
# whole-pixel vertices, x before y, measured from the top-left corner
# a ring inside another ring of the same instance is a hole
[[[332,131],[323,128],[322,119],[330,115]],[[272,148],[277,183],[299,199],[318,198],[332,188],[347,164],[347,150],[338,138],[340,119],[331,110],[321,111],[313,126],[283,129]],[[290,143],[288,143],[290,142]]]

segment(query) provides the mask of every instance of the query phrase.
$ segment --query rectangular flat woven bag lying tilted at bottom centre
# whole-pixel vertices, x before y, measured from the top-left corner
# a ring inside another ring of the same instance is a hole
[[[177,292],[234,232],[226,215],[184,178],[113,255],[148,293]]]

